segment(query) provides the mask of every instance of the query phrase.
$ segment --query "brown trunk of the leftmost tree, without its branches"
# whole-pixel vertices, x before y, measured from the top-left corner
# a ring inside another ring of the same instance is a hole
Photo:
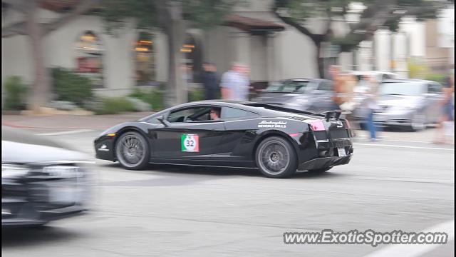
[[[36,1],[28,3],[29,11],[26,19],[26,30],[30,41],[30,51],[34,68],[34,84],[29,109],[38,114],[40,107],[46,106],[51,94],[51,85],[48,71],[44,65],[42,44],[42,28],[38,21],[38,6]]]

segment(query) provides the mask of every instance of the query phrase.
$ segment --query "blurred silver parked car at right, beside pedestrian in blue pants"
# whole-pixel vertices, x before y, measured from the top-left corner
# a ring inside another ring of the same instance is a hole
[[[374,121],[382,126],[396,126],[413,131],[425,129],[426,124],[440,118],[438,101],[442,100],[442,85],[418,79],[390,79],[378,87]],[[363,99],[363,101],[365,101]],[[353,111],[358,120],[366,119],[363,101]]]

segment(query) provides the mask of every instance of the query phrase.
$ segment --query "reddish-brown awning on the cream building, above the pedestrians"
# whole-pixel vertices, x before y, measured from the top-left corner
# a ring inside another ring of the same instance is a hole
[[[264,21],[262,19],[254,19],[236,14],[225,16],[224,25],[247,31],[250,34],[267,34],[285,29],[284,26],[272,21]]]

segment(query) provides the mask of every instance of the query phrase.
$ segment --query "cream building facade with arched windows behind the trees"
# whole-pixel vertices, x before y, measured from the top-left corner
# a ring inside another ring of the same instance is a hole
[[[223,26],[209,31],[192,29],[191,24],[186,24],[188,29],[181,49],[185,79],[197,83],[203,61],[216,64],[219,75],[228,71],[234,61],[247,64],[252,84],[259,86],[279,79],[318,77],[313,42],[276,18],[271,13],[272,4],[272,0],[251,0],[247,5],[236,6]],[[41,9],[39,17],[45,22],[58,15],[58,12]],[[2,14],[2,26],[20,19],[14,12]],[[321,21],[310,22],[313,32],[323,32]],[[135,86],[165,82],[166,36],[160,31],[134,28],[135,21],[127,21],[123,29],[110,35],[105,33],[99,16],[79,16],[46,36],[43,41],[45,64],[49,68],[63,67],[90,76],[95,92],[103,96],[122,96]],[[347,28],[341,21],[333,30],[343,34]],[[427,43],[425,35],[432,29],[426,28],[425,24],[405,19],[397,34],[380,30],[373,41],[362,42],[353,53],[328,56],[328,59],[337,57],[338,64],[346,70],[395,71],[407,77],[406,62],[410,56],[442,54],[432,49],[437,43],[432,43],[432,47]],[[454,49],[454,43],[446,47]],[[2,38],[1,54],[2,84],[8,76],[21,76],[26,83],[32,83],[33,62],[26,36]]]

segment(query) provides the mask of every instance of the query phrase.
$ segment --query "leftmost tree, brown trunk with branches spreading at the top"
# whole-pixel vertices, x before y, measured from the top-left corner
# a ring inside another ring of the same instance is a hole
[[[97,0],[81,0],[75,3],[70,11],[63,12],[58,19],[51,21],[51,23],[41,23],[38,19],[39,7],[46,4],[58,4],[58,2],[57,0],[1,1],[2,15],[8,15],[8,12],[16,11],[24,16],[23,21],[18,21],[2,28],[1,37],[28,36],[34,68],[34,82],[31,90],[31,106],[29,106],[29,109],[35,113],[39,112],[40,107],[46,105],[51,95],[51,81],[43,61],[43,38],[52,31],[68,24],[79,15],[85,14],[98,4]]]

